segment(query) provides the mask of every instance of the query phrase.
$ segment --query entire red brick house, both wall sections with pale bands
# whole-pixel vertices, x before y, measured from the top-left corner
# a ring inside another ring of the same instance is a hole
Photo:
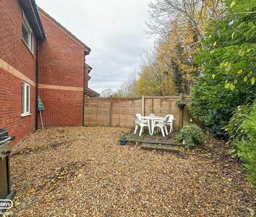
[[[34,52],[29,50],[22,39],[22,8],[31,16],[27,17],[27,20],[33,24],[31,28],[33,26],[36,31]],[[46,40],[43,40],[44,32],[47,34]],[[37,38],[40,41],[37,41]],[[17,144],[36,128],[37,43],[38,94],[45,106],[44,125],[47,127],[83,124],[83,86],[84,83],[85,87],[88,85],[85,54],[90,54],[90,48],[43,10],[38,14],[34,0],[1,0],[0,128],[16,136],[12,144]],[[30,85],[31,114],[25,117],[21,115],[22,81]],[[41,126],[40,117],[38,126]]]

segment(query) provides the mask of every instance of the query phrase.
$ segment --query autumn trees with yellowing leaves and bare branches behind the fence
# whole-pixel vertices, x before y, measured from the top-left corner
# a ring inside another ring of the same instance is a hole
[[[155,83],[157,94],[168,93],[170,91],[164,85],[167,81],[172,83],[176,93],[190,93],[194,77],[200,73],[193,59],[201,48],[206,23],[219,16],[221,7],[220,0],[157,0],[150,3],[148,32],[161,38],[154,63],[142,68],[139,82],[143,85],[138,87],[146,89],[150,83]],[[150,68],[155,68],[157,72],[152,70],[150,73]],[[154,80],[150,80],[151,77]]]

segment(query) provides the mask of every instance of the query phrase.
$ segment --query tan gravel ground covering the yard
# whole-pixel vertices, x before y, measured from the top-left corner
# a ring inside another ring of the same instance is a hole
[[[120,146],[127,128],[51,128],[13,148],[13,216],[254,216],[223,142],[172,154]]]

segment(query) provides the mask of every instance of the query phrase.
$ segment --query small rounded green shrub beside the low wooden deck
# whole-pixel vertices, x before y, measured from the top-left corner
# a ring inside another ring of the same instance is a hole
[[[177,137],[178,142],[185,142],[185,147],[194,147],[196,145],[204,146],[204,133],[196,124],[183,126]]]

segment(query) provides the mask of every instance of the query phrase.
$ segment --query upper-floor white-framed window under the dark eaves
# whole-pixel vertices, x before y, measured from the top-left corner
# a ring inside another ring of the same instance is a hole
[[[31,52],[34,53],[34,33],[23,11],[22,11],[22,38],[24,42],[27,44],[27,47],[29,47],[29,50],[31,50]]]

